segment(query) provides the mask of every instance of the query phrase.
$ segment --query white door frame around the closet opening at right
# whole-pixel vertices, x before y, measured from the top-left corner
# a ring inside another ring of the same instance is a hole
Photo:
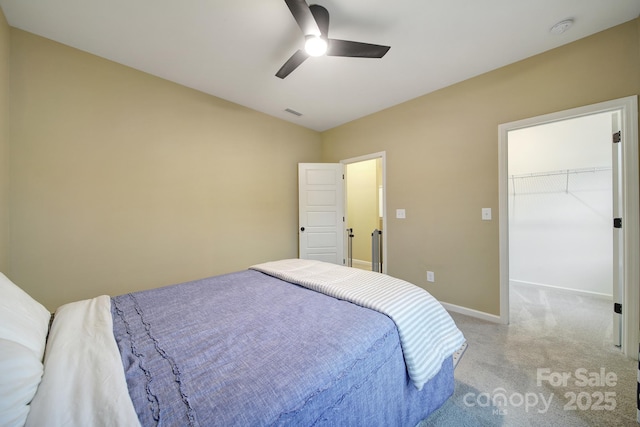
[[[566,119],[605,112],[621,112],[622,194],[623,194],[623,310],[622,352],[638,358],[640,316],[640,257],[639,234],[639,175],[638,175],[638,97],[605,101],[537,117],[531,117],[498,126],[498,194],[500,230],[500,322],[509,323],[509,197],[508,197],[508,133],[512,130],[548,124]],[[613,223],[612,223],[613,227]],[[613,305],[613,304],[612,304]],[[612,307],[613,309],[613,307]]]

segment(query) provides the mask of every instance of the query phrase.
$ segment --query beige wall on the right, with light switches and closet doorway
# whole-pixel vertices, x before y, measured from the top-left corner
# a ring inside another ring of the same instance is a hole
[[[636,19],[324,132],[324,161],[387,153],[387,209],[407,215],[388,218],[389,274],[498,315],[498,125],[639,94],[639,28]]]

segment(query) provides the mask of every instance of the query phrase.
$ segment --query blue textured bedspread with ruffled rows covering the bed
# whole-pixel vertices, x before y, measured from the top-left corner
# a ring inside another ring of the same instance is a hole
[[[415,426],[453,393],[418,391],[378,312],[247,270],[112,298],[144,426]]]

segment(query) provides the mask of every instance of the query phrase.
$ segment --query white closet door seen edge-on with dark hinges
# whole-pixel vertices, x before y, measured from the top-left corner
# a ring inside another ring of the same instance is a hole
[[[613,193],[613,344],[622,345],[622,295],[624,283],[624,234],[622,226],[622,137],[620,132],[620,113],[611,114],[613,133],[612,143],[612,193]],[[617,142],[616,142],[617,141]],[[620,308],[620,310],[618,310]]]

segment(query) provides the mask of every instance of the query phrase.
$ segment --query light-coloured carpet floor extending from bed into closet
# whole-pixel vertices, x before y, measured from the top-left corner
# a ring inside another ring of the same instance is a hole
[[[454,395],[419,427],[637,427],[637,362],[612,345],[611,301],[526,285],[510,293],[510,325],[452,313],[469,346]]]

